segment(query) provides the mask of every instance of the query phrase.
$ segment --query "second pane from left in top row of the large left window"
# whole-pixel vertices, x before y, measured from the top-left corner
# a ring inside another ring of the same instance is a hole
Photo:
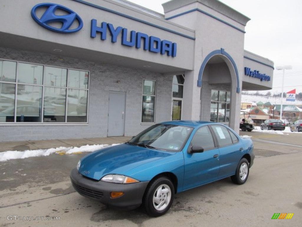
[[[43,66],[27,63],[18,64],[18,83],[42,84]]]

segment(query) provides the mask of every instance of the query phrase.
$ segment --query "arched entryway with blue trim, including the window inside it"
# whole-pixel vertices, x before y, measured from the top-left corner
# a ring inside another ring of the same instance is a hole
[[[225,123],[236,129],[240,82],[233,58],[223,49],[212,51],[201,64],[197,85],[201,87],[201,120]]]

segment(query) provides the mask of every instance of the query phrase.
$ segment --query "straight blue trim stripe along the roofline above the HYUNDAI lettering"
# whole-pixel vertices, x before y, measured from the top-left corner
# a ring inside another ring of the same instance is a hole
[[[107,11],[107,12],[110,12],[110,13],[114,13],[116,15],[119,15],[119,16],[122,16],[122,17],[125,17],[125,18],[128,18],[128,19],[131,19],[131,20],[134,20],[134,21],[138,21],[138,22],[141,22],[141,23],[144,23],[146,25],[150,25],[150,26],[153,26],[155,28],[159,28],[159,29],[162,29],[164,31],[169,31],[171,33],[174,33],[176,35],[180,35],[182,37],[185,37],[185,38],[189,38],[189,39],[192,39],[192,40],[195,40],[194,37],[191,37],[189,35],[185,35],[185,34],[182,34],[180,32],[177,32],[177,31],[173,31],[169,28],[164,28],[162,26],[159,26],[159,25],[155,25],[155,24],[152,24],[152,23],[149,23],[148,21],[143,21],[141,19],[138,19],[138,18],[135,18],[135,17],[132,17],[132,16],[129,16],[129,15],[126,15],[126,14],[123,14],[123,13],[119,13],[117,11],[114,11],[114,10],[111,10],[111,9],[108,9],[108,8],[104,8],[102,6],[99,6],[99,5],[95,5],[93,3],[90,3],[90,2],[86,2],[86,1],[83,1],[83,0],[73,0],[75,2],[79,2],[79,3],[82,3],[82,4],[85,4],[85,5],[89,5],[89,6],[92,6],[94,8],[98,8],[98,9],[101,9],[101,10],[104,10],[104,11]]]

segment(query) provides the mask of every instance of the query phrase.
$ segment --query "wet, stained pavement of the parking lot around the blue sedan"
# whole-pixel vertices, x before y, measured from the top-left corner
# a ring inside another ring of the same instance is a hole
[[[69,172],[85,153],[1,162],[0,226],[301,226],[302,133],[240,134],[254,141],[247,182],[239,186],[226,178],[176,194],[170,211],[159,218],[141,208],[107,208],[75,192]],[[274,213],[294,215],[272,220]],[[8,220],[8,215],[59,220]]]

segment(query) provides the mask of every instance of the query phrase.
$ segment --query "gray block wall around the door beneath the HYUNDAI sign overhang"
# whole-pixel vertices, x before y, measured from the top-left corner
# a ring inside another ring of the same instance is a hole
[[[141,123],[143,79],[157,81],[156,123],[171,119],[172,76],[2,47],[0,58],[90,71],[88,125],[0,126],[0,141],[106,137],[109,90],[126,92],[125,136],[135,135],[150,126]]]

